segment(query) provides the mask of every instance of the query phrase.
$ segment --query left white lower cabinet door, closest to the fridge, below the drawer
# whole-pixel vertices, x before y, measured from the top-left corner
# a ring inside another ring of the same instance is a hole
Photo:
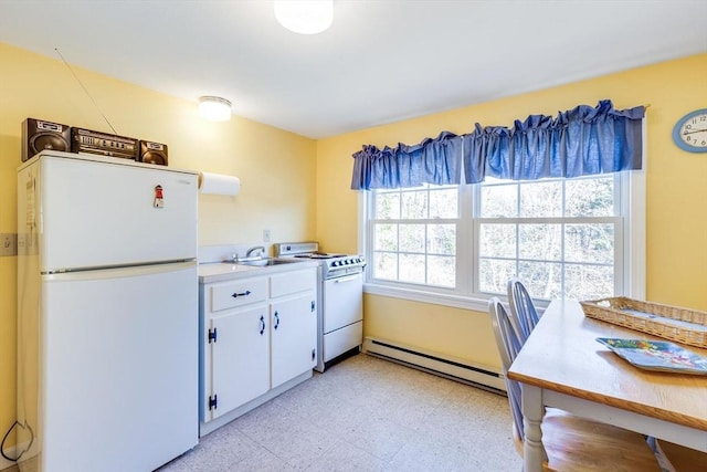
[[[211,319],[211,419],[260,397],[270,389],[267,305],[229,312]]]

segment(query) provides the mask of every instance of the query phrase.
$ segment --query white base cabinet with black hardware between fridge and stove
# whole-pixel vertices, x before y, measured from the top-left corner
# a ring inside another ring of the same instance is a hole
[[[312,377],[317,269],[200,285],[200,434]]]

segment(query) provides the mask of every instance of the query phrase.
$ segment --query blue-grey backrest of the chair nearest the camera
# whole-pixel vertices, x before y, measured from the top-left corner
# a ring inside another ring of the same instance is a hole
[[[510,412],[513,415],[513,422],[516,428],[518,438],[523,439],[523,410],[520,409],[521,390],[520,384],[508,378],[508,369],[510,364],[515,360],[516,356],[523,347],[523,342],[516,333],[516,328],[508,316],[508,312],[504,308],[498,297],[494,296],[488,302],[488,313],[490,314],[490,324],[494,328],[494,336],[496,337],[496,345],[498,346],[498,353],[500,354],[500,361],[504,367],[504,377],[506,378],[506,390],[508,395],[508,402],[510,403]]]

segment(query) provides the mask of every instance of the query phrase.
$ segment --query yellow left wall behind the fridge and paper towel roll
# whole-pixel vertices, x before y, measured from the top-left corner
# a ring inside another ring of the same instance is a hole
[[[0,233],[15,233],[22,120],[109,128],[60,60],[0,43]],[[74,71],[118,134],[167,144],[170,167],[241,179],[238,197],[200,196],[200,245],[260,243],[264,229],[273,242],[315,238],[314,140],[235,116],[204,122],[196,102]],[[0,434],[15,409],[15,271],[17,258],[0,258]]]

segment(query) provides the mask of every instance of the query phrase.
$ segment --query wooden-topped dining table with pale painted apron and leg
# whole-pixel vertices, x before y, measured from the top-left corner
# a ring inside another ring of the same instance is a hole
[[[707,376],[636,368],[598,337],[661,339],[588,318],[577,302],[552,302],[508,370],[523,382],[524,470],[542,470],[546,406],[707,452]]]

